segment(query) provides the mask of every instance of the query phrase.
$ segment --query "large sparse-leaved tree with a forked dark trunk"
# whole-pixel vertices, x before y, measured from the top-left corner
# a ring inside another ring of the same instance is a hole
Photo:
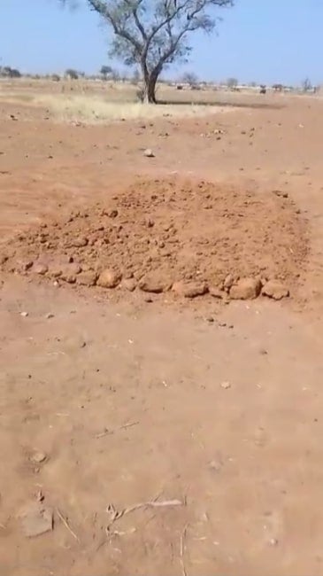
[[[63,3],[72,0],[60,0]],[[143,100],[156,103],[156,83],[165,66],[187,62],[188,36],[210,34],[219,18],[215,9],[234,0],[85,0],[112,29],[111,55],[142,74]]]

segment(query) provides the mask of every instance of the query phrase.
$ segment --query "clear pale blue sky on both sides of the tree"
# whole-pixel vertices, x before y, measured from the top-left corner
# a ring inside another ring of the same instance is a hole
[[[323,83],[323,0],[236,0],[221,10],[219,35],[198,35],[188,66],[199,78],[241,82]],[[86,7],[72,12],[58,0],[0,0],[0,64],[23,72],[96,73],[109,37]]]

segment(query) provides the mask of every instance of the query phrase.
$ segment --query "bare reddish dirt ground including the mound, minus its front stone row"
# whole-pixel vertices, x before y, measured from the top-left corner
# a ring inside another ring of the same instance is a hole
[[[323,574],[323,102],[259,102],[145,128],[1,105],[5,574]],[[291,299],[167,306],[21,275],[42,252],[135,280],[265,273]],[[28,538],[37,499],[53,529]],[[182,505],[107,512],[155,499]]]

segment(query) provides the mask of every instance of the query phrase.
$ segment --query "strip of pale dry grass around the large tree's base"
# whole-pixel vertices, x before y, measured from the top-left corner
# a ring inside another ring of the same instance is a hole
[[[176,86],[161,83],[158,87],[158,106],[142,105],[137,100],[138,86],[130,82],[101,82],[90,80],[20,79],[0,82],[0,102],[26,104],[48,108],[58,121],[98,122],[119,119],[201,116],[220,112],[229,107],[258,105],[255,90],[235,92],[216,87],[200,90],[177,90]],[[266,99],[263,98],[265,105]],[[280,97],[277,97],[280,105]]]

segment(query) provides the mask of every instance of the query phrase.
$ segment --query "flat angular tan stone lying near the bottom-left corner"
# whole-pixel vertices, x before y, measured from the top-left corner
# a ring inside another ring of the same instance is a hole
[[[22,530],[27,538],[34,538],[53,529],[53,510],[43,502],[31,502],[19,512]]]

